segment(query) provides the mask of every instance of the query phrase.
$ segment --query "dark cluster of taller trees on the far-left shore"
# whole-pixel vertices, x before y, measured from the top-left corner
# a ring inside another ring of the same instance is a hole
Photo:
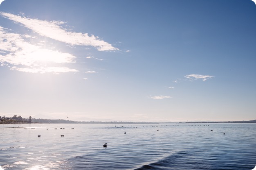
[[[32,117],[22,118],[21,116],[14,115],[13,117],[0,116],[0,124],[12,124],[12,123],[31,123]]]

